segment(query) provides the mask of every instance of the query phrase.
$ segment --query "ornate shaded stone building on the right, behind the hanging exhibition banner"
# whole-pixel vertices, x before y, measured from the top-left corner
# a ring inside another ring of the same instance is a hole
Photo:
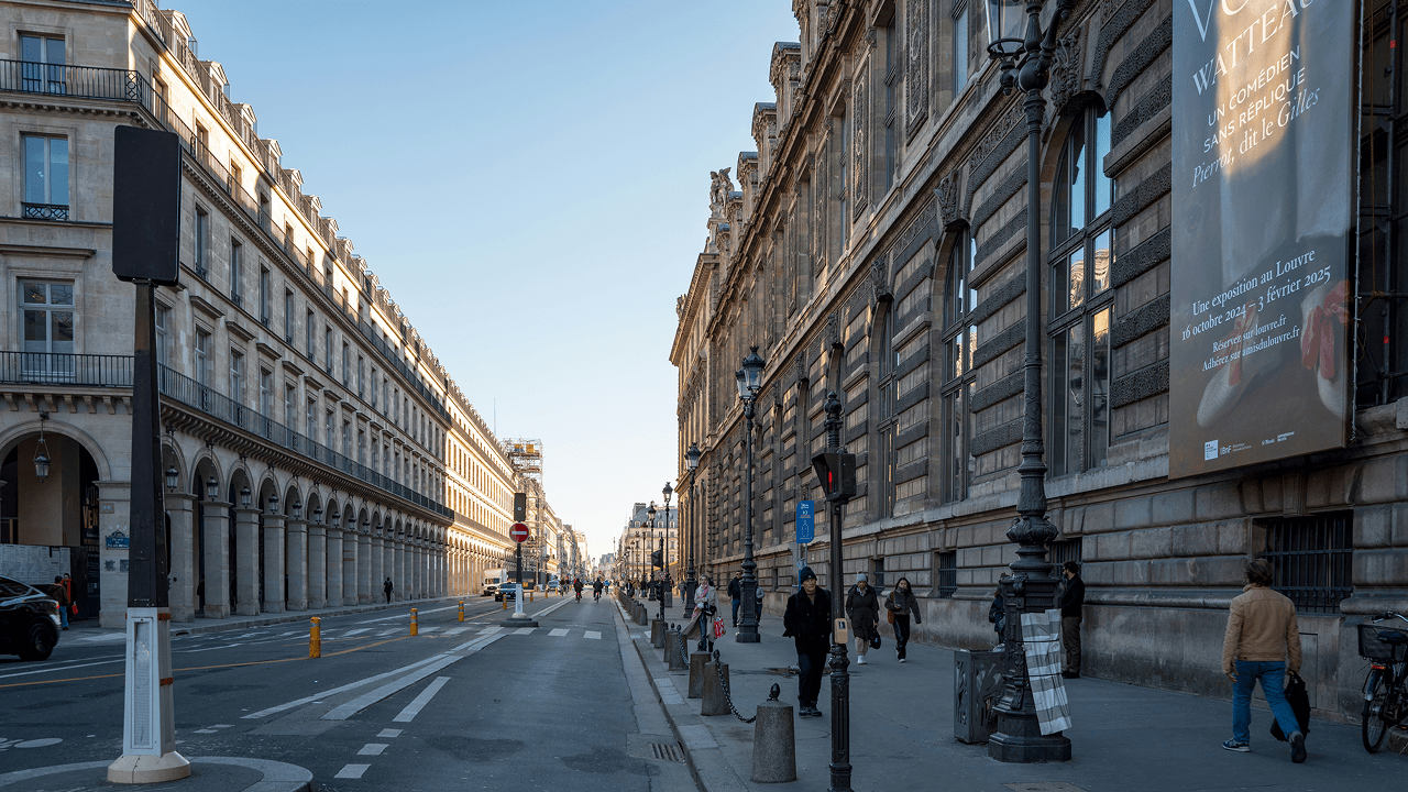
[[[987,8],[793,1],[801,41],[773,48],[774,96],[752,109],[758,151],[711,176],[708,237],[677,309],[686,541],[714,569],[742,559],[734,372],[756,345],[767,369],[753,537],[769,607],[796,579],[796,505],[821,499],[810,458],[835,390],[859,455],[848,585],[860,571],[886,588],[907,576],[924,598],[921,640],[991,645],[987,606],[1015,558],[1005,531],[1036,211],[1046,492],[1060,528],[1049,557],[1081,564],[1086,672],[1226,696],[1228,602],[1243,562],[1267,555],[1301,612],[1312,705],[1357,717],[1354,626],[1408,610],[1408,366],[1388,342],[1404,338],[1404,316],[1383,296],[1402,283],[1401,252],[1364,225],[1362,247],[1377,255],[1360,272],[1378,295],[1360,289],[1360,337],[1374,344],[1360,355],[1347,448],[1170,481],[1173,0],[1074,4],[1046,92],[1039,207],[1026,199],[1022,96],[1002,93],[986,52]],[[1369,73],[1395,52],[1388,3],[1369,1],[1366,20]],[[1394,101],[1383,86],[1364,96]],[[1381,175],[1390,147],[1366,135]],[[693,474],[691,444],[703,451]],[[810,564],[822,579],[829,538],[819,519]]]

